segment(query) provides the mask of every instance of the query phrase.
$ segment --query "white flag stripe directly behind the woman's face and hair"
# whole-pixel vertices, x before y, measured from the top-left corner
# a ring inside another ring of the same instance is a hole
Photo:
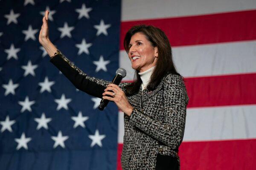
[[[183,77],[243,74],[256,72],[256,41],[229,42],[208,45],[175,47],[173,60]],[[134,70],[124,50],[119,65],[125,68],[123,80],[133,80]]]

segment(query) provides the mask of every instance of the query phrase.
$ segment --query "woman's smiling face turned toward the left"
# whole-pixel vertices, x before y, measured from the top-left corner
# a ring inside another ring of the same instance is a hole
[[[133,69],[143,72],[156,65],[157,47],[153,47],[143,33],[134,34],[131,37],[129,47],[128,56]]]

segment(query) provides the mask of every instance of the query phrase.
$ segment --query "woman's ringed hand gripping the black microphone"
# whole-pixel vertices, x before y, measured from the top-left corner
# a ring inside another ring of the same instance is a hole
[[[133,107],[131,104],[128,102],[127,97],[125,96],[125,93],[121,90],[121,88],[118,87],[118,85],[115,84],[109,84],[107,88],[104,90],[105,92],[102,94],[102,99],[108,99],[110,101],[113,101],[116,103],[117,107],[123,111],[125,114],[128,116],[131,115],[131,112],[133,110]],[[113,96],[113,91],[116,95]],[[113,96],[105,96],[105,95]]]

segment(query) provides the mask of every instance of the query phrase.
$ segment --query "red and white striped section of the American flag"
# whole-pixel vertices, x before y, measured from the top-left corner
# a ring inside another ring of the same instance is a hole
[[[189,95],[181,170],[256,169],[256,0],[123,0],[122,46],[136,24],[161,28]],[[119,114],[119,159],[123,143]],[[120,161],[118,161],[119,163]],[[121,164],[118,164],[119,170]]]

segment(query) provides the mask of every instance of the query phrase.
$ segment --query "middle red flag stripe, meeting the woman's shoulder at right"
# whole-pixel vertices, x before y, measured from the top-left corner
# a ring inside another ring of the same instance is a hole
[[[256,104],[256,73],[185,77],[184,80],[188,108]]]

